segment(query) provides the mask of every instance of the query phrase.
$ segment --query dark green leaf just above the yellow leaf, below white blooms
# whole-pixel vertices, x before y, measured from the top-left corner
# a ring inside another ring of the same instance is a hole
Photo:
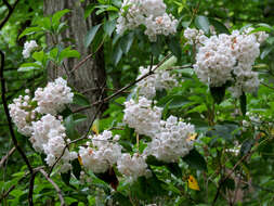
[[[196,149],[191,150],[183,160],[193,169],[207,171],[207,163]]]

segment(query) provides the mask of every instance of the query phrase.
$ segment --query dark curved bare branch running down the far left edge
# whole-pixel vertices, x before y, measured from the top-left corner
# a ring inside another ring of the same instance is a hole
[[[2,91],[1,98],[2,98],[2,103],[3,103],[3,107],[4,107],[4,113],[5,113],[8,123],[9,123],[10,133],[11,133],[12,141],[13,141],[13,144],[14,144],[15,149],[19,152],[22,158],[25,160],[29,172],[32,173],[32,167],[30,166],[26,154],[19,147],[18,142],[17,142],[16,137],[15,137],[15,133],[14,133],[13,128],[12,128],[12,119],[11,119],[10,111],[9,111],[8,103],[6,103],[6,100],[5,100],[5,80],[4,80],[4,77],[3,77],[4,53],[1,50],[0,50],[0,55],[1,55],[0,79],[1,79],[1,91]]]

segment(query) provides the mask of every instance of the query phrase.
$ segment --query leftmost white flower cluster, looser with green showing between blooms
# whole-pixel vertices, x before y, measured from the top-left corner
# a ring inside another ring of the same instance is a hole
[[[26,90],[26,93],[29,93],[29,90]],[[13,123],[18,128],[18,132],[24,136],[30,136],[32,133],[31,123],[36,119],[36,113],[30,105],[30,101],[29,95],[19,95],[9,105]]]

